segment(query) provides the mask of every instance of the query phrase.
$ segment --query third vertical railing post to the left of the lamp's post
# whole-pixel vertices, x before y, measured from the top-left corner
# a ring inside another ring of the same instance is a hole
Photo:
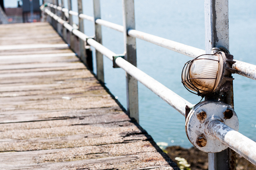
[[[83,13],[83,4],[82,0],[77,0],[77,6],[78,6],[78,30],[82,33],[85,32],[83,29],[83,19],[79,17],[79,14]],[[80,59],[83,61],[83,63],[87,64],[86,62],[86,56],[85,56],[85,41],[83,41],[81,38],[79,39],[79,52],[80,52]]]

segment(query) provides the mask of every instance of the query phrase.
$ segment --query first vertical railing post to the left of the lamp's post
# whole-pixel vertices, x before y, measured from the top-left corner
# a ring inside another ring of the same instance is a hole
[[[129,29],[135,29],[134,0],[122,0],[125,59],[137,66],[136,38],[127,34]],[[139,123],[139,99],[137,80],[126,73],[127,113]]]

